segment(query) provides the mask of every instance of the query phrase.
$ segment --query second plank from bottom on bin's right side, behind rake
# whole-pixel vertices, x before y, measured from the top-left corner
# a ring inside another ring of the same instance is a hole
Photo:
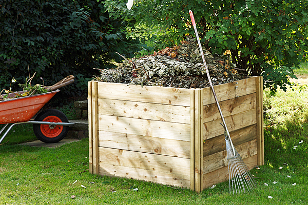
[[[242,159],[254,156],[258,153],[257,139],[235,146],[235,149],[238,151]],[[204,173],[213,172],[215,170],[228,166],[226,150],[206,156],[203,158],[203,160],[205,165]]]

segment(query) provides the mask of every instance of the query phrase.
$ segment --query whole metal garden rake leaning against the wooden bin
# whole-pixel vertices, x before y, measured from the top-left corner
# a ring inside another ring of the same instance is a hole
[[[194,18],[194,14],[192,14],[192,11],[189,10],[189,15],[191,18],[191,23],[192,26],[195,29],[195,34],[196,34],[196,38],[198,41],[198,45],[199,45],[199,49],[200,49],[200,54],[202,56],[203,59],[203,63],[205,66],[205,71],[206,71],[206,75],[209,81],[209,85],[211,87],[211,90],[213,91],[213,95],[219,110],[219,114],[221,116],[221,120],[222,123],[221,124],[225,130],[224,132],[224,136],[225,136],[225,141],[226,141],[226,150],[227,150],[227,161],[228,161],[228,172],[229,172],[229,194],[231,194],[231,192],[234,194],[238,194],[238,193],[245,193],[246,191],[250,191],[252,190],[254,187],[256,187],[256,182],[255,179],[253,178],[252,174],[249,172],[247,166],[245,165],[243,159],[241,158],[241,156],[239,155],[239,153],[236,151],[236,149],[234,148],[234,145],[232,143],[232,140],[230,138],[230,134],[229,131],[227,129],[227,125],[226,122],[224,120],[222,111],[220,109],[220,105],[218,103],[218,99],[213,87],[213,84],[211,83],[211,79],[209,76],[209,72],[206,66],[206,62],[204,59],[204,55],[203,55],[203,50],[202,50],[202,46],[199,40],[199,35],[198,35],[198,31],[196,28],[196,23],[195,23],[195,18]]]

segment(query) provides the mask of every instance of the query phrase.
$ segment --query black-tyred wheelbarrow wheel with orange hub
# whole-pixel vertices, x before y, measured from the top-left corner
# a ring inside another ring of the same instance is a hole
[[[35,121],[49,121],[49,122],[68,122],[65,114],[59,110],[48,109],[39,113]],[[45,143],[55,143],[61,141],[68,132],[67,126],[53,126],[53,125],[38,125],[33,124],[33,131],[37,139]]]

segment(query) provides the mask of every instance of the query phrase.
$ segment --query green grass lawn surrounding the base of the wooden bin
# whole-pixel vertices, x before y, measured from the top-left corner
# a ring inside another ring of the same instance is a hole
[[[230,196],[228,182],[197,194],[92,175],[88,139],[59,148],[21,146],[35,139],[25,125],[0,145],[0,204],[307,204],[308,90],[293,88],[275,95],[264,91],[265,165],[252,170],[258,187],[251,193]]]

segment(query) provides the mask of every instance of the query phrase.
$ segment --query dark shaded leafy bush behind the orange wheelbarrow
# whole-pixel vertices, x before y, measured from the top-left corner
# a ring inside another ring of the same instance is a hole
[[[61,93],[80,95],[98,74],[93,68],[120,60],[115,51],[131,57],[139,49],[138,40],[126,38],[126,23],[109,18],[100,1],[0,0],[0,12],[1,89],[35,72],[32,83],[43,84],[42,77],[48,86],[72,74],[76,83]]]

